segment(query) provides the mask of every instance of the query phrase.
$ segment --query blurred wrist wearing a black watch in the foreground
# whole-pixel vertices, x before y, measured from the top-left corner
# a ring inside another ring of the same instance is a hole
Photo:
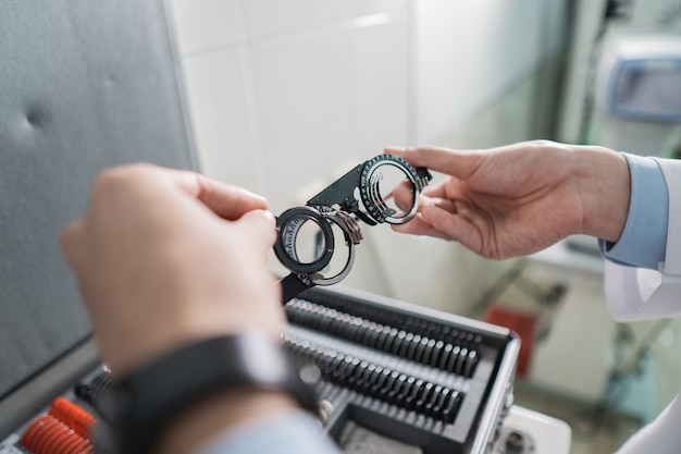
[[[114,383],[100,410],[126,454],[148,453],[169,437],[166,449],[171,441],[197,443],[265,408],[265,413],[292,408],[294,402],[317,413],[317,397],[287,352],[260,333],[200,340],[115,378]],[[215,418],[223,409],[224,416]],[[191,419],[195,414],[198,421]],[[212,422],[203,426],[211,416]],[[175,438],[170,426],[184,429]]]

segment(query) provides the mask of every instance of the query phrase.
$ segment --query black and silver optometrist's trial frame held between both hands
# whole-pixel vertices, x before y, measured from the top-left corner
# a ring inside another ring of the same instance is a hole
[[[381,194],[380,183],[383,171],[388,170],[386,165],[404,173],[411,186],[411,206],[404,212],[386,204],[385,200],[393,194]],[[369,225],[409,221],[417,212],[421,191],[431,180],[432,175],[425,168],[414,169],[396,155],[379,155],[351,169],[309,199],[306,206],[284,211],[276,219],[277,237],[274,244],[276,257],[290,270],[290,274],[282,280],[282,302],[286,303],[314,285],[333,285],[345,279],[355,261],[355,246],[363,238],[357,219]],[[359,200],[356,194],[359,194]],[[300,229],[308,222],[318,229],[319,257],[304,261],[298,257],[296,241]],[[335,250],[333,225],[343,232],[348,255],[342,271],[324,277],[321,271],[331,262]]]

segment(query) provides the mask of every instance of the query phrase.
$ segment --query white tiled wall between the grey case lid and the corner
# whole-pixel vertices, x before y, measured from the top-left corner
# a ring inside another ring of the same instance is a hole
[[[408,130],[407,1],[174,0],[207,174],[288,208]]]

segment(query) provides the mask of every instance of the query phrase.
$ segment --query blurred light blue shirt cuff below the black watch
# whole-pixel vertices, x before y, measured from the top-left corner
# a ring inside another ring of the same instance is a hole
[[[306,412],[272,416],[224,432],[199,454],[339,454],[320,422]]]

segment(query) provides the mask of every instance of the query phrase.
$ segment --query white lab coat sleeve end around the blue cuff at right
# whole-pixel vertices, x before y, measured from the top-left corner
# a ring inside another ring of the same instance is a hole
[[[666,257],[658,270],[606,262],[606,300],[619,321],[681,316],[681,161],[658,163],[669,189]]]

